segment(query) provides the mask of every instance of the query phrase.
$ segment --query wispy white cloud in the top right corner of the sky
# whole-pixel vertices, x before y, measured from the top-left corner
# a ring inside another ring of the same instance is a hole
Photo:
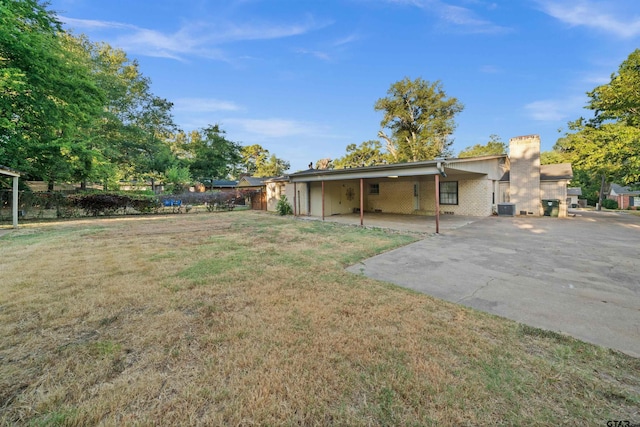
[[[636,37],[640,35],[640,17],[637,12],[631,15],[622,7],[616,9],[616,4],[624,6],[624,3],[624,1],[538,0],[544,13],[571,26],[594,28],[622,38]]]

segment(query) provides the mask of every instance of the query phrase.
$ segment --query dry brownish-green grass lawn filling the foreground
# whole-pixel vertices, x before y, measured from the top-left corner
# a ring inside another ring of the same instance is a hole
[[[0,424],[640,422],[640,359],[344,270],[415,238],[256,212],[5,233]]]

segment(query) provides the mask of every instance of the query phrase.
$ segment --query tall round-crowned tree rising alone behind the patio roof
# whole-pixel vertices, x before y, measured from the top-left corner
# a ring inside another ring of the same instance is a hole
[[[454,117],[464,107],[456,98],[447,97],[440,81],[405,77],[392,84],[387,97],[378,99],[374,108],[384,113],[378,136],[386,141],[393,161],[415,162],[449,153]]]

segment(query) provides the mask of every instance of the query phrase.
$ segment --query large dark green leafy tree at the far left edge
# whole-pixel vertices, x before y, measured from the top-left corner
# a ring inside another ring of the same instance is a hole
[[[87,163],[77,142],[103,93],[45,3],[0,3],[0,94],[0,162],[50,188]]]

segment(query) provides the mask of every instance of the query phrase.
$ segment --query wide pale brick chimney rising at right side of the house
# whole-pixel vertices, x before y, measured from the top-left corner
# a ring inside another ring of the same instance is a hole
[[[541,215],[540,136],[517,136],[509,140],[509,196],[518,215]]]

